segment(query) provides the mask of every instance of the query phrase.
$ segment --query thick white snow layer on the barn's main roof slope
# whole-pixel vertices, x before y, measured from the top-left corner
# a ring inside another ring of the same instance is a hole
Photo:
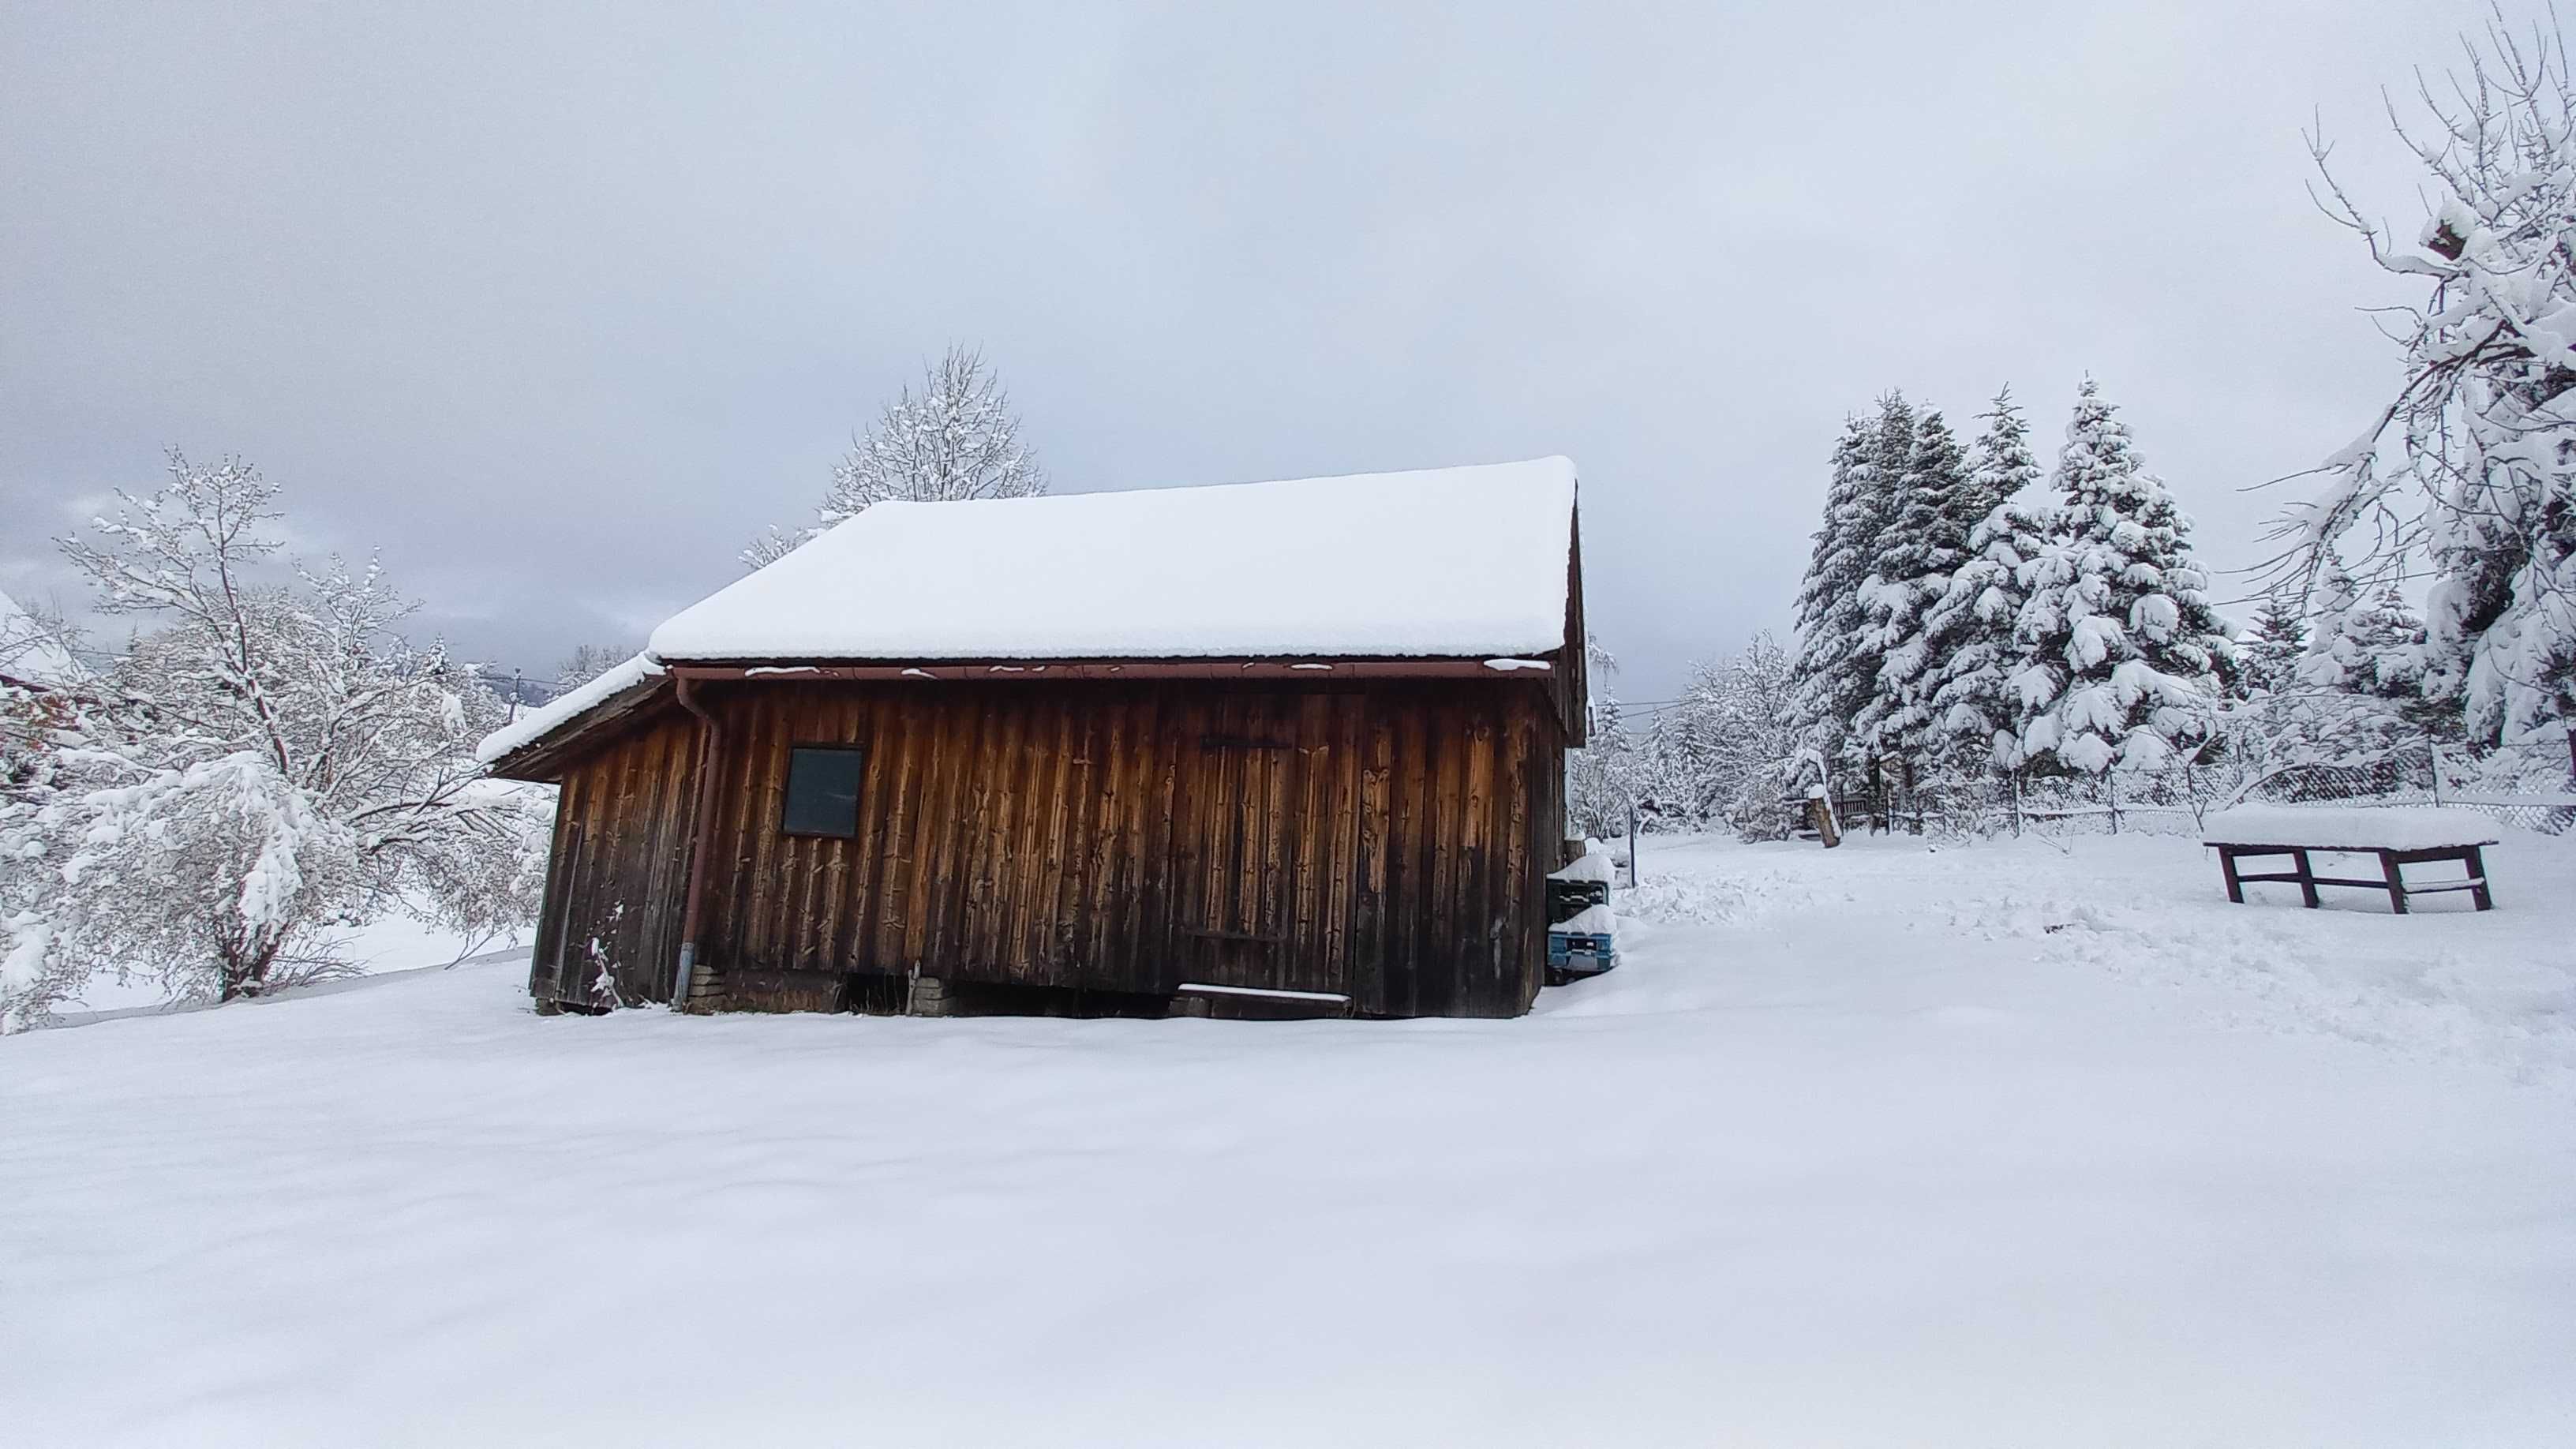
[[[1535,655],[1574,464],[878,503],[683,608],[659,660]]]

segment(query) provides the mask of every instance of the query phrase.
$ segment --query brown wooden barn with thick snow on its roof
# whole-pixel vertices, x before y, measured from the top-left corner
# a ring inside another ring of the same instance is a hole
[[[544,1008],[1517,1016],[1574,464],[884,503],[484,740]]]

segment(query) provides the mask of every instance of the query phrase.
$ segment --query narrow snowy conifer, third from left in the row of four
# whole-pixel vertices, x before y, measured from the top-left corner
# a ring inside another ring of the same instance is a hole
[[[1924,753],[1963,773],[2022,763],[2025,719],[2012,688],[2027,663],[2017,634],[2027,601],[2022,565],[2038,557],[2043,539],[2040,513],[2022,500],[2040,480],[2040,462],[2009,387],[1994,394],[1981,423],[1971,487],[1960,498],[1963,511],[1978,511],[1968,523],[1968,559],[1924,616],[1935,639]]]

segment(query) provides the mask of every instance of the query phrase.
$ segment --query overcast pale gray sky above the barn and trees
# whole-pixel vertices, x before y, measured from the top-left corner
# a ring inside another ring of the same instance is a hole
[[[546,665],[951,340],[1056,490],[1571,454],[1631,699],[1785,629],[1886,387],[2053,451],[2092,369],[2241,565],[2396,376],[2300,129],[2411,237],[2378,90],[2481,15],[744,10],[0,3],[0,588],[77,603],[49,534],[234,451]]]

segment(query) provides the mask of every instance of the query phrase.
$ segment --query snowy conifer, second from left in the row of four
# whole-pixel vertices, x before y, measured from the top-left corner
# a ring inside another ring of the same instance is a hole
[[[1878,691],[1862,706],[1857,735],[1880,755],[1929,766],[1935,694],[1958,634],[1932,616],[1950,593],[1950,578],[1968,562],[1968,534],[1986,511],[1968,459],[1940,410],[1914,423],[1914,454],[1899,487],[1896,518],[1878,549],[1878,578],[1868,590],[1870,645],[1883,650]]]

